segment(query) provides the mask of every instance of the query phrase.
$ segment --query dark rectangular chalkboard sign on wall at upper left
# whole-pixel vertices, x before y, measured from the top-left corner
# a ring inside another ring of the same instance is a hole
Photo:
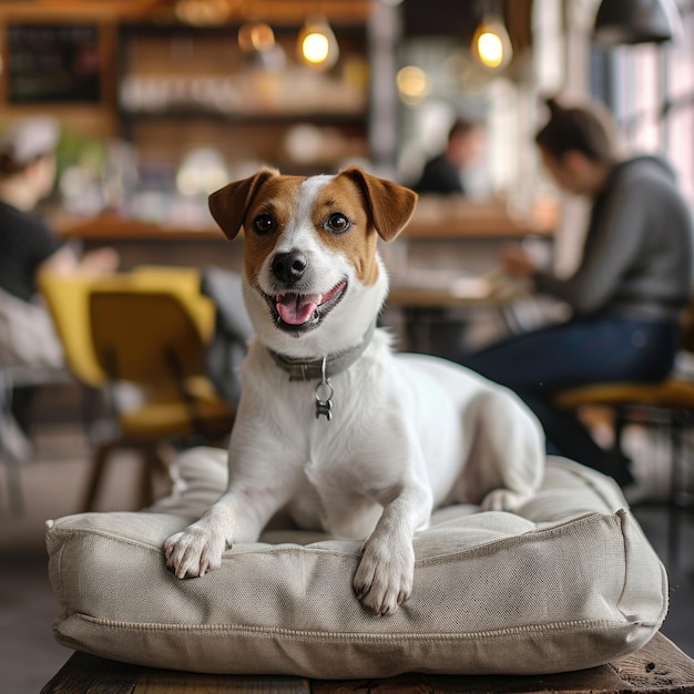
[[[94,24],[9,24],[9,103],[96,103],[101,99]]]

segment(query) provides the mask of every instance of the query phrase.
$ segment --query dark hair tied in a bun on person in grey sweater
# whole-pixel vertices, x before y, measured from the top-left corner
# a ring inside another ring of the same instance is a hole
[[[550,118],[535,134],[539,147],[557,161],[571,151],[594,162],[615,161],[618,136],[606,110],[598,104],[563,106],[554,98],[545,103]]]

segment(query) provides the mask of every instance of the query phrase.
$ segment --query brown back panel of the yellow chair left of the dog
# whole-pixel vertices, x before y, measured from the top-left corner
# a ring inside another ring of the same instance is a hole
[[[163,387],[203,372],[203,336],[175,294],[94,288],[89,305],[94,353],[110,380]]]

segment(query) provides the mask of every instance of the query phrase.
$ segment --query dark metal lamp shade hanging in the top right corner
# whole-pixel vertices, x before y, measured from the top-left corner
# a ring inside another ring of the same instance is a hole
[[[663,43],[681,35],[681,23],[674,0],[602,0],[593,41],[603,48]]]

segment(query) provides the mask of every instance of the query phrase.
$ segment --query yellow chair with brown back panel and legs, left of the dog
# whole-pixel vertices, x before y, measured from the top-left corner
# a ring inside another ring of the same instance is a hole
[[[106,388],[119,429],[95,445],[83,510],[93,510],[116,451],[140,455],[139,503],[147,506],[172,445],[222,442],[231,431],[233,408],[204,375],[215,308],[191,277],[171,268],[41,278],[71,370],[85,385]],[[135,387],[130,407],[118,397],[122,384]]]

